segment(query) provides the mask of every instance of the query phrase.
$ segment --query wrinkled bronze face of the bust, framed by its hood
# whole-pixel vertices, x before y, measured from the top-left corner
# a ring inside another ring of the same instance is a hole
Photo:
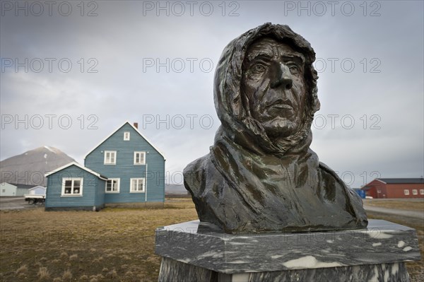
[[[270,137],[286,137],[302,126],[306,83],[304,57],[289,45],[264,38],[249,47],[243,62],[242,91]]]

